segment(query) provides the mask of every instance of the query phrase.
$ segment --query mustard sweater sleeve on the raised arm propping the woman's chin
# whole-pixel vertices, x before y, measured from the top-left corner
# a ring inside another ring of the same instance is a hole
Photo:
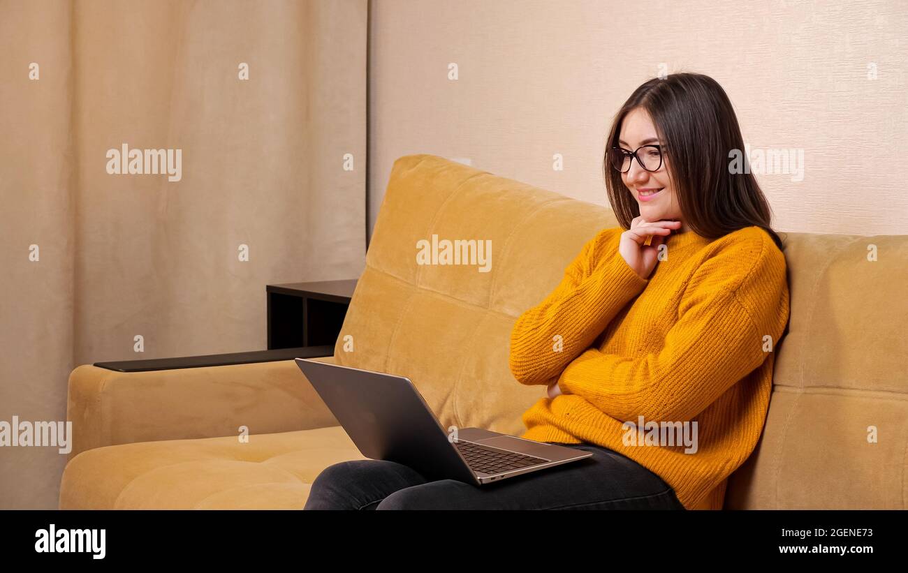
[[[508,359],[518,382],[554,382],[646,287],[648,279],[637,275],[618,253],[622,232],[608,228],[587,242],[555,290],[518,318]]]

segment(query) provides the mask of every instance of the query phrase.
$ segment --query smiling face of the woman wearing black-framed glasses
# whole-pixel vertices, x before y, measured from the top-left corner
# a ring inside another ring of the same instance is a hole
[[[662,144],[656,134],[656,126],[642,108],[635,108],[627,113],[621,123],[618,140],[618,146],[627,151],[635,151],[641,145]],[[643,154],[647,151],[652,150],[649,148],[640,150],[640,159],[643,159]],[[668,157],[665,154],[662,156],[662,166],[656,171],[647,171],[637,160],[631,160],[630,169],[627,173],[621,174],[621,180],[634,195],[634,199],[637,199],[640,217],[649,222],[662,219],[678,220],[681,221],[681,228],[676,232],[687,230],[684,219],[681,218],[675,189],[668,177]],[[652,193],[656,190],[658,192]]]

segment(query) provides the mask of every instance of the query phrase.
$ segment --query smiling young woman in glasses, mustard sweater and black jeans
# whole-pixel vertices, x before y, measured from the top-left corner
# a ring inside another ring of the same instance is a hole
[[[620,228],[587,242],[526,311],[511,372],[545,387],[521,437],[585,461],[481,488],[393,461],[321,472],[306,509],[720,509],[753,452],[788,322],[780,238],[731,102],[706,75],[650,80],[617,112],[605,157]]]

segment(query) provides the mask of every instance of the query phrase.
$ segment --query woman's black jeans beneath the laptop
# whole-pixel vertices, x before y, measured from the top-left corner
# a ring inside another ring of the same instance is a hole
[[[556,443],[556,442],[549,442]],[[626,456],[591,443],[586,460],[478,486],[429,481],[395,461],[335,463],[315,481],[304,510],[684,510],[675,490]]]

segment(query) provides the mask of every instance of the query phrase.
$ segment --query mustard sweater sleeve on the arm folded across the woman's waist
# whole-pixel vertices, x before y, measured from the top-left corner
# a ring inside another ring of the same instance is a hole
[[[753,241],[726,248],[695,271],[678,314],[658,354],[590,348],[558,378],[561,392],[582,396],[617,420],[696,418],[763,364],[785,330],[784,255]]]

